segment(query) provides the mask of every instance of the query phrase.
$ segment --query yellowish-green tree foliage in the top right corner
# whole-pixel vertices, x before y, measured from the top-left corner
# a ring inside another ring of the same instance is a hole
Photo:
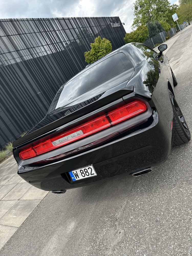
[[[179,0],[178,10],[179,21],[188,22],[192,20],[192,0]]]

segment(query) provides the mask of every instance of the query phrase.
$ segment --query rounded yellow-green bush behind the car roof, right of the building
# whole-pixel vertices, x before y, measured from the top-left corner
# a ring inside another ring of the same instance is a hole
[[[148,29],[146,26],[141,25],[136,30],[126,33],[124,40],[126,44],[130,42],[143,43],[148,35]]]

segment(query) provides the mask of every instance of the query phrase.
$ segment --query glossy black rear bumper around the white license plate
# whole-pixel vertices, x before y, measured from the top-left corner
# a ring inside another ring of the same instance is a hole
[[[43,190],[64,190],[136,170],[152,167],[166,160],[171,150],[170,122],[160,110],[153,110],[151,121],[132,133],[124,132],[112,141],[40,167],[18,167],[18,174],[30,184]],[[93,165],[97,176],[72,182],[68,172]]]

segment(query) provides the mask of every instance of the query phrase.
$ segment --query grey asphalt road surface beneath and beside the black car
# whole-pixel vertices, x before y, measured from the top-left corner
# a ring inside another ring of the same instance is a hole
[[[167,51],[192,131],[192,25]],[[163,139],[163,138],[162,138]],[[0,256],[192,255],[192,142],[152,173],[49,193]]]

